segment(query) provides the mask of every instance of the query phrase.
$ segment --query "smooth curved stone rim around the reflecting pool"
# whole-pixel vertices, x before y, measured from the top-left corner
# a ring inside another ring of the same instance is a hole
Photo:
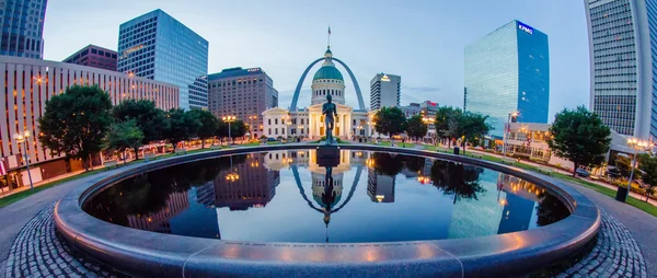
[[[55,224],[65,240],[87,255],[126,274],[158,277],[521,275],[568,259],[593,240],[600,228],[598,208],[583,194],[552,177],[464,155],[372,144],[341,144],[339,148],[443,159],[511,174],[555,195],[570,210],[570,216],[532,230],[470,239],[316,244],[155,233],[105,222],[82,210],[84,201],[97,192],[138,173],[220,155],[316,146],[276,144],[205,151],[142,163],[101,181],[89,178],[57,202]]]

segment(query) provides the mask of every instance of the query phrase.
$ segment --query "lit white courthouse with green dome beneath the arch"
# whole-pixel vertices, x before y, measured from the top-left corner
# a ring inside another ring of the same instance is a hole
[[[335,118],[335,128],[333,129],[334,137],[346,140],[371,136],[372,126],[369,118],[373,113],[370,115],[367,109],[354,109],[346,104],[345,80],[342,72],[335,67],[331,47],[327,47],[322,59],[322,67],[312,77],[310,106],[297,109],[296,99],[298,95],[296,95],[291,109],[274,107],[263,112],[264,136],[268,138],[300,137],[310,140],[319,140],[324,137],[326,130],[324,127],[324,116],[322,115],[322,105],[326,103],[326,95],[333,97],[333,103],[337,107],[337,117]],[[321,59],[318,59],[315,62],[319,61]],[[300,84],[313,65],[311,63],[303,73]],[[342,65],[344,66],[344,63]],[[351,80],[354,80],[351,73],[350,76]],[[359,99],[361,99],[360,95]]]

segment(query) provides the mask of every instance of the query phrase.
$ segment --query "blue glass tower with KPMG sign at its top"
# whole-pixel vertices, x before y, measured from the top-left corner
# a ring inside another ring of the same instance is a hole
[[[503,137],[509,114],[522,123],[548,123],[550,56],[548,35],[511,21],[465,47],[464,107],[488,115]]]

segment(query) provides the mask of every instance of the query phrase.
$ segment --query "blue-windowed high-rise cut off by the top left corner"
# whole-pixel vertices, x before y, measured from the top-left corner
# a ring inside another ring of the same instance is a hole
[[[0,1],[0,55],[43,59],[48,0]]]

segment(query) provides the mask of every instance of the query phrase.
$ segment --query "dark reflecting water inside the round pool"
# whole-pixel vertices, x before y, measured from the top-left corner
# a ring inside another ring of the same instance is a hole
[[[569,215],[545,189],[473,165],[351,150],[320,164],[308,149],[208,159],[132,176],[83,208],[152,232],[306,243],[484,236]]]

